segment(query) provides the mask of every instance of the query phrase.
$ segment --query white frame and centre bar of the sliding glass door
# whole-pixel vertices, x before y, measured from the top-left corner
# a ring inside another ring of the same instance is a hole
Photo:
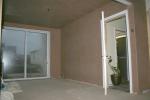
[[[14,80],[32,80],[32,79],[47,79],[47,78],[50,78],[50,32],[49,31],[43,31],[43,30],[34,30],[34,29],[25,29],[25,28],[18,28],[18,27],[7,27],[5,26],[3,29],[6,29],[6,30],[17,30],[17,31],[24,31],[25,32],[25,41],[27,40],[26,38],[26,34],[27,32],[39,32],[39,33],[42,33],[42,34],[46,34],[47,35],[47,74],[45,77],[34,77],[34,78],[28,78],[27,75],[26,75],[26,68],[27,68],[27,65],[26,65],[26,61],[27,61],[27,58],[25,56],[25,64],[24,64],[24,78],[17,78],[17,79],[4,79],[4,81],[14,81]],[[25,43],[25,47],[27,47],[27,44]],[[25,55],[26,55],[26,48],[25,48]]]

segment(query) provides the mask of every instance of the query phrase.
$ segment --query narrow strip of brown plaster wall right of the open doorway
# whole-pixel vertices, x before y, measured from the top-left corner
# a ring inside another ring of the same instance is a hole
[[[136,56],[137,56],[137,91],[142,92],[150,88],[149,82],[149,51],[148,51],[148,32],[146,20],[145,0],[130,0],[133,3],[134,28],[131,29],[136,38]],[[134,70],[134,69],[133,69]]]

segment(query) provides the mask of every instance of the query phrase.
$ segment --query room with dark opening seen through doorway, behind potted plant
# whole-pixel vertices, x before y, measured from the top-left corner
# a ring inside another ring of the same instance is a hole
[[[125,16],[106,22],[106,48],[107,55],[111,57],[111,64],[107,65],[108,69],[108,85],[112,89],[121,89],[129,91],[129,68],[127,57],[127,41],[126,41],[126,19]],[[113,74],[112,66],[120,70],[121,81],[119,85],[114,85],[112,82]]]

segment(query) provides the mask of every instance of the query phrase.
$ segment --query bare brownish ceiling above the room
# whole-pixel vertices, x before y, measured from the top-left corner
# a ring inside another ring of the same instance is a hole
[[[111,0],[4,0],[4,20],[61,27]]]

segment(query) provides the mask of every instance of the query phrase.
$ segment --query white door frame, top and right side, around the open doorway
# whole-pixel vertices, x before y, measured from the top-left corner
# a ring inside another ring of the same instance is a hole
[[[127,25],[127,40],[128,40],[128,62],[129,62],[129,76],[130,76],[130,93],[133,94],[133,79],[132,79],[132,60],[131,60],[131,41],[130,41],[130,30],[129,30],[129,16],[128,16],[128,10],[121,11],[117,14],[114,14],[112,16],[109,16],[105,18],[105,22],[110,21],[114,18],[118,17],[126,17],[126,25]]]

